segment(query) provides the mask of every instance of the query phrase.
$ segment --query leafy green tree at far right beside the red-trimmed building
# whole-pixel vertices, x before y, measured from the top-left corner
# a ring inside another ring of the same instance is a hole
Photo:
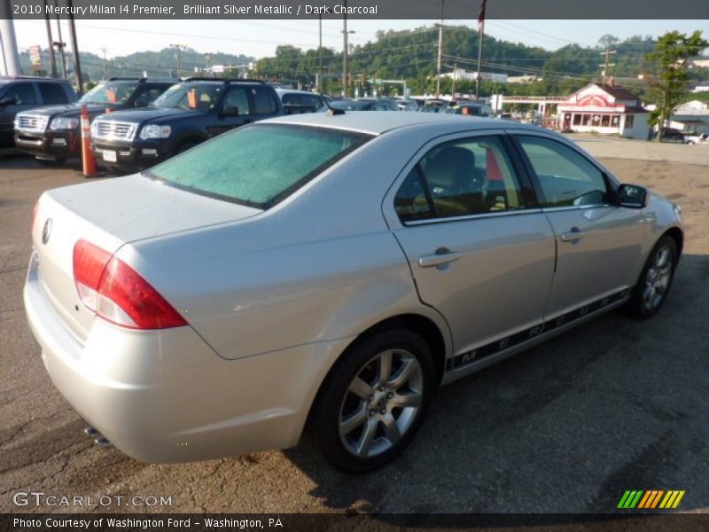
[[[662,139],[662,129],[665,121],[674,107],[680,105],[688,94],[687,82],[690,76],[687,72],[690,59],[709,47],[709,42],[702,38],[702,32],[697,30],[692,35],[684,35],[671,31],[660,36],[655,49],[645,56],[655,67],[651,77],[650,96],[657,102],[657,108],[650,113],[651,126],[658,125]]]

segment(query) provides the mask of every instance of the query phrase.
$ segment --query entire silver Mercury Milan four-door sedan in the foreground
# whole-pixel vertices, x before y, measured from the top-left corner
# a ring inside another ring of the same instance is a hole
[[[51,379],[150,462],[296,445],[362,472],[434,389],[666,300],[680,209],[511,122],[300,114],[43,193],[24,298]],[[543,383],[541,384],[543,386]]]

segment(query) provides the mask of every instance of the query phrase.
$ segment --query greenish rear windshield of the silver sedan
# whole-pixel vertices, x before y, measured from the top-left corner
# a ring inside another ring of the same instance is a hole
[[[247,126],[168,159],[145,174],[191,192],[266,209],[370,138],[337,129]]]

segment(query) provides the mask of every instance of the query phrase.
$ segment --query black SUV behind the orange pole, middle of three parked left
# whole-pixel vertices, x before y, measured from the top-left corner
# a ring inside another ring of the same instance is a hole
[[[146,78],[111,78],[87,92],[78,103],[18,113],[15,145],[40,162],[63,162],[82,156],[81,108],[90,119],[121,109],[149,106],[175,81]]]

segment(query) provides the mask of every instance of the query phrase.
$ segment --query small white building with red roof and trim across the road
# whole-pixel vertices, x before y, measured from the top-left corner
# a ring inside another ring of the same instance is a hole
[[[559,129],[647,139],[648,111],[627,89],[590,83],[558,105]]]

